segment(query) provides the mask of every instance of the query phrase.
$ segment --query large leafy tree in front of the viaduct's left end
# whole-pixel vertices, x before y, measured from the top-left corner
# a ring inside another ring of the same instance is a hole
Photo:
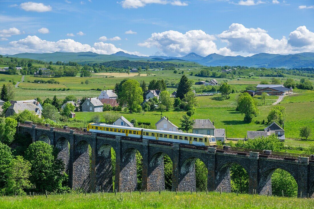
[[[25,151],[25,159],[31,164],[30,182],[36,191],[61,189],[64,165],[53,153],[52,146],[42,141],[33,142]]]

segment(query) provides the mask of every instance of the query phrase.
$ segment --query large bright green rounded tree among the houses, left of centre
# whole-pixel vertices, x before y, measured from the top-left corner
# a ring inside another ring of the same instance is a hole
[[[138,108],[143,102],[143,90],[136,80],[127,80],[122,84],[120,98],[118,102],[120,105],[127,105],[130,113]]]

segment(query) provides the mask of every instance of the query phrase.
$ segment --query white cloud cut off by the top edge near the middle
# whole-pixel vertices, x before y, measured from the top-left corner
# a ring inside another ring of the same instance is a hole
[[[123,8],[139,8],[144,7],[147,4],[171,4],[174,6],[187,6],[187,2],[182,2],[180,0],[123,0],[121,2],[117,2],[122,5]]]

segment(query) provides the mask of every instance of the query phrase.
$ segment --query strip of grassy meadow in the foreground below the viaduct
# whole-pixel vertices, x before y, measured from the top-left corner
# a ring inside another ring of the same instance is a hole
[[[312,209],[314,199],[300,199],[288,197],[267,197],[254,196],[247,194],[223,193],[220,195],[217,192],[192,193],[162,191],[161,195],[158,192],[142,193],[94,193],[94,194],[74,194],[68,195],[51,195],[18,197],[0,197],[0,208],[285,208],[285,209]]]

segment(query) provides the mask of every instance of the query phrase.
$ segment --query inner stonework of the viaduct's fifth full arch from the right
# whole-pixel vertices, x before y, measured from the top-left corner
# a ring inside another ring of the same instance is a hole
[[[129,192],[135,191],[138,187],[136,152],[139,151],[134,146],[129,146],[124,149],[120,162],[119,174],[119,191]],[[140,151],[139,151],[140,152]],[[140,153],[141,156],[142,153]]]

